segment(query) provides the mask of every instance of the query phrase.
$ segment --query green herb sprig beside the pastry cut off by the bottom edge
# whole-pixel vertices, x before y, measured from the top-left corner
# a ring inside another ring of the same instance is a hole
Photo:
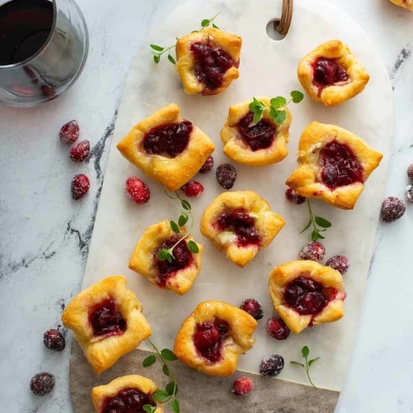
[[[159,351],[151,340],[147,339],[147,341],[153,347],[153,350],[155,350],[158,354],[160,361],[162,361],[163,364],[162,371],[171,379],[171,381],[169,381],[169,383],[166,385],[165,390],[156,390],[156,392],[153,392],[152,397],[153,401],[155,401],[156,403],[156,406],[143,405],[142,408],[147,413],[154,413],[159,403],[162,405],[170,404],[173,413],[180,413],[179,401],[178,399],[176,399],[176,394],[178,393],[178,385],[167,363],[167,361],[175,361],[176,355],[173,354],[172,350],[169,350],[169,348],[164,348],[163,350]],[[155,361],[156,355],[151,354],[146,359],[144,359],[144,361],[142,361],[142,365],[143,367],[149,367],[152,366]]]

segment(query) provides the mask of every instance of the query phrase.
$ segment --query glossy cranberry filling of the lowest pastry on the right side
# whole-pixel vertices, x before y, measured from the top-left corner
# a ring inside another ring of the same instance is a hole
[[[295,308],[301,315],[317,314],[328,303],[323,286],[305,275],[288,284],[284,299],[288,306]]]

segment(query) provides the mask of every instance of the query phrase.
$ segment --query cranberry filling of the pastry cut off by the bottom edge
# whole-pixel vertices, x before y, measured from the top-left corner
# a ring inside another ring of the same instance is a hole
[[[145,413],[142,408],[145,404],[156,405],[150,394],[136,388],[126,388],[116,396],[105,399],[102,413]]]

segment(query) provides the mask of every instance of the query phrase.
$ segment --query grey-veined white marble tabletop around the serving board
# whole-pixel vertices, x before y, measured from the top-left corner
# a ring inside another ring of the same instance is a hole
[[[385,192],[402,197],[405,169],[413,162],[413,13],[387,0],[331,1],[364,26],[392,79],[397,118]],[[90,0],[78,3],[91,47],[76,85],[41,108],[0,108],[1,412],[72,412],[70,342],[63,353],[51,353],[43,346],[43,332],[59,324],[62,306],[81,285],[116,108],[136,47],[154,10],[180,1],[123,0],[122,6],[100,2],[98,8]],[[74,165],[57,138],[72,118],[93,147],[86,165]],[[81,172],[89,174],[92,189],[74,202],[68,188]],[[398,222],[379,225],[339,413],[412,412],[412,222],[410,205]],[[363,234],[353,231],[354,242],[363,242]],[[56,376],[54,392],[44,398],[28,390],[39,371]]]

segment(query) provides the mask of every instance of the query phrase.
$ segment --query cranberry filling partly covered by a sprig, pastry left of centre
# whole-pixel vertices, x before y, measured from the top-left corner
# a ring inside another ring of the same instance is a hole
[[[162,248],[171,248],[171,246],[174,246],[179,240],[180,235],[172,235],[168,240],[162,242],[153,254],[155,256],[156,267],[158,268],[158,286],[165,287],[167,279],[173,275],[173,273],[185,268],[193,261],[191,251],[189,251],[185,240],[182,240],[175,248],[173,248],[173,257],[175,257],[175,259],[172,260],[172,262],[167,260],[160,261],[156,258],[158,251]]]

